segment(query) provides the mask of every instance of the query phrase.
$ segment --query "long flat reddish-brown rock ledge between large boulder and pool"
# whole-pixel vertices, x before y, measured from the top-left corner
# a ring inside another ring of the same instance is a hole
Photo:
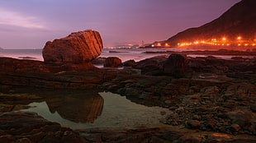
[[[0,58],[0,67],[1,85],[55,89],[92,88],[121,74],[120,71],[105,74],[106,71],[93,67],[90,62],[54,67],[53,64],[48,66],[39,61]]]

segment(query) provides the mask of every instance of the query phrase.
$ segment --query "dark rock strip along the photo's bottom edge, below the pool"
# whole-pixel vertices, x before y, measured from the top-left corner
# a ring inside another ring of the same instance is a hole
[[[253,136],[179,129],[178,127],[137,127],[133,129],[94,128],[72,131],[35,113],[4,113],[0,116],[0,141],[11,142],[254,142]]]

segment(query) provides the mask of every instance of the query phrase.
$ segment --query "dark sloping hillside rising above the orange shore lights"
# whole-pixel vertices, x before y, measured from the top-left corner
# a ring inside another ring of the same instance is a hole
[[[256,0],[242,0],[216,20],[197,28],[184,30],[160,43],[177,46],[197,40],[221,40],[223,37],[230,41],[250,40],[256,42]]]

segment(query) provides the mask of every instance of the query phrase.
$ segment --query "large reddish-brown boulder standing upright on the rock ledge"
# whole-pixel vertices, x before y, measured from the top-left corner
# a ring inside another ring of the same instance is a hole
[[[48,41],[42,53],[45,63],[83,63],[97,58],[102,48],[101,35],[95,30],[84,30]]]

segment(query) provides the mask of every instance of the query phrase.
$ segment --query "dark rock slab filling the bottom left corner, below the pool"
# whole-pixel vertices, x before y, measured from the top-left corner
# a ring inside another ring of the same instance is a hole
[[[1,142],[87,142],[79,134],[59,123],[49,122],[36,113],[4,113],[0,115]]]

